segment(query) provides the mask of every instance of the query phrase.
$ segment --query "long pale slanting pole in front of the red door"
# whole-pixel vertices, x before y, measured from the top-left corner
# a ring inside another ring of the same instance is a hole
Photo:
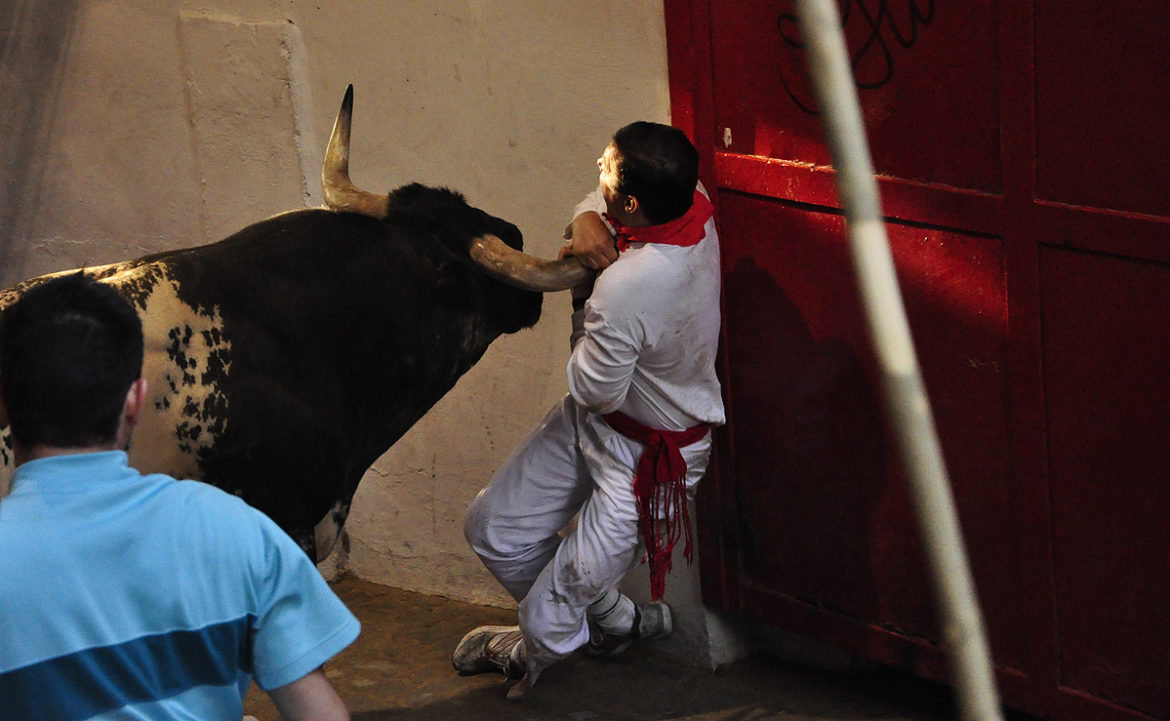
[[[999,720],[983,618],[894,273],[841,19],[834,0],[797,0],[797,7],[890,427],[910,481],[943,640],[952,654],[959,717]]]

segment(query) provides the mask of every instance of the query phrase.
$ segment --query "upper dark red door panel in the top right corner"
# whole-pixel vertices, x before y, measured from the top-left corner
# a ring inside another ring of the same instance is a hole
[[[1037,193],[1166,214],[1170,2],[1035,4]]]

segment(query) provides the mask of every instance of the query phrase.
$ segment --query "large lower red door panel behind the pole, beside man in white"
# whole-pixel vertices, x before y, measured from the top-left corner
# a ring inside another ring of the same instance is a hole
[[[906,482],[887,437],[842,219],[720,197],[744,583],[937,639]],[[920,363],[979,549],[994,650],[1020,666],[1006,448],[1002,243],[890,225]],[[991,520],[992,522],[985,522]]]

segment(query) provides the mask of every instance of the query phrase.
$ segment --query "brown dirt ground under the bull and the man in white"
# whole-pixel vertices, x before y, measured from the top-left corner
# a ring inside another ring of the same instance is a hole
[[[362,620],[362,636],[325,667],[355,721],[941,721],[951,694],[888,671],[827,673],[762,655],[709,671],[675,665],[653,641],[614,659],[576,654],[508,701],[503,677],[456,675],[450,652],[469,629],[514,624],[515,612],[346,578],[335,589]],[[255,686],[246,713],[278,721]]]

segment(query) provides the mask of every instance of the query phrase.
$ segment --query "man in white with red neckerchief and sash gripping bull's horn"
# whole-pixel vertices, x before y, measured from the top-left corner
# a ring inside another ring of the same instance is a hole
[[[509,698],[579,647],[613,654],[670,631],[666,604],[639,609],[614,586],[645,552],[660,599],[680,537],[689,559],[687,500],[707,469],[710,428],[724,420],[720,248],[698,153],[680,130],[633,123],[598,167],[600,186],[577,206],[562,252],[605,268],[573,289],[569,396],[480,492],[464,526],[519,602],[519,625],[473,630],[453,662],[461,674],[522,679]]]

